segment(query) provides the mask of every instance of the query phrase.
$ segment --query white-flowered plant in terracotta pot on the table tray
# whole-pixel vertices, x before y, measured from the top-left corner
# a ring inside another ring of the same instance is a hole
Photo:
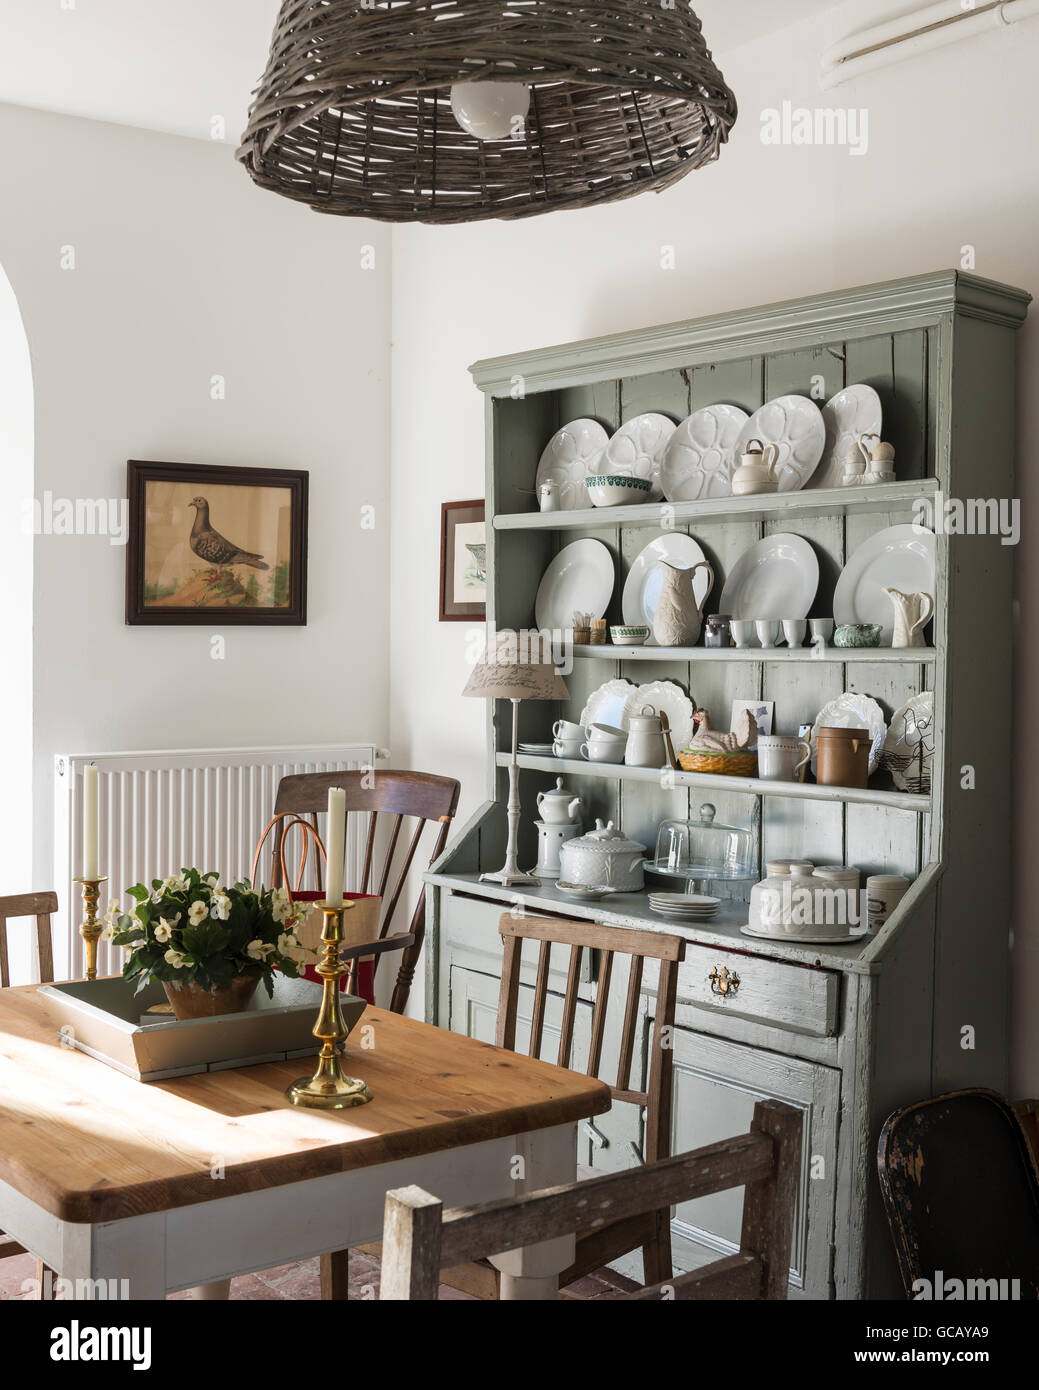
[[[134,910],[113,903],[104,937],[129,948],[124,979],[138,992],[157,980],[178,1019],[241,1013],[260,980],[273,995],[275,970],[296,979],[313,956],[296,934],[309,903],[284,888],[223,887],[217,873],[182,869],[127,894]]]

